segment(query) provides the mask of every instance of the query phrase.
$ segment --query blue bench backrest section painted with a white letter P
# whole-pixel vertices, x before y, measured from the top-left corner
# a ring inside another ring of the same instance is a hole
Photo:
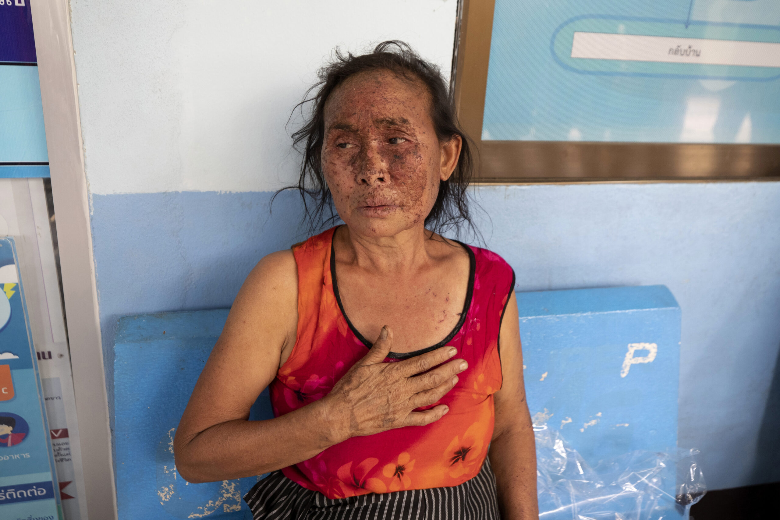
[[[668,288],[518,292],[517,302],[535,421],[591,465],[676,447],[680,309]]]

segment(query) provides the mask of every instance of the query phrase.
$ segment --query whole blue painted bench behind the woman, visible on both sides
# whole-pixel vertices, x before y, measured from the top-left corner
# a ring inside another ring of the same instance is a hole
[[[517,293],[528,403],[586,460],[676,444],[680,311],[661,286]],[[228,310],[123,317],[115,340],[120,520],[250,518],[255,478],[188,484],[172,439]],[[265,391],[250,419],[272,416]]]

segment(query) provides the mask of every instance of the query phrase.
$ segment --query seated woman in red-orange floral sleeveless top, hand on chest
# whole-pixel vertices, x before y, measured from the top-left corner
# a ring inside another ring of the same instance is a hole
[[[399,42],[339,55],[321,80],[295,135],[299,188],[344,225],[246,279],[176,467],[271,472],[245,497],[254,518],[537,518],[514,273],[426,228],[469,221],[449,90]],[[248,421],[268,385],[275,419]]]

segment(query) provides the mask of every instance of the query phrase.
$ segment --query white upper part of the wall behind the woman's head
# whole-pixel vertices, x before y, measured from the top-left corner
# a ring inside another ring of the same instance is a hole
[[[449,77],[456,0],[72,0],[90,193],[265,191],[285,123],[341,46],[401,39]]]

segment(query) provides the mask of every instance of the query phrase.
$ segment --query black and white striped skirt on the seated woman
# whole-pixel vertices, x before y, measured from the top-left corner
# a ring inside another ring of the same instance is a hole
[[[331,499],[275,471],[244,497],[254,520],[499,520],[490,459],[459,486]]]

